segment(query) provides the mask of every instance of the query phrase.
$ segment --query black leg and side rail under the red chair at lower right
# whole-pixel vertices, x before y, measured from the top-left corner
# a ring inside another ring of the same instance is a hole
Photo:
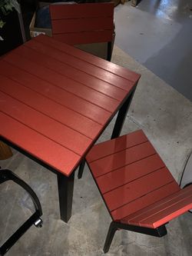
[[[107,238],[104,242],[104,249],[103,249],[104,253],[107,253],[109,251],[111,242],[114,238],[114,233],[118,229],[125,229],[127,231],[134,231],[134,232],[141,233],[141,234],[149,234],[149,235],[152,235],[152,236],[158,237],[158,238],[161,238],[165,234],[167,234],[167,229],[165,228],[165,225],[162,225],[158,228],[144,228],[144,227],[140,227],[140,226],[134,226],[134,225],[124,224],[121,222],[111,221],[111,224],[108,229]]]

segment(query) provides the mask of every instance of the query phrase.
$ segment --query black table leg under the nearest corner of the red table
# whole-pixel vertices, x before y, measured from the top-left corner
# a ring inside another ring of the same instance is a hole
[[[71,218],[74,188],[74,172],[69,176],[58,173],[58,198],[61,220],[68,222]]]

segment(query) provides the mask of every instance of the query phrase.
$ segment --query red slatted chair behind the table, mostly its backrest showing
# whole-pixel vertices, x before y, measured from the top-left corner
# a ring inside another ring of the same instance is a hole
[[[108,42],[108,61],[114,32],[114,3],[50,5],[52,36],[69,45]]]

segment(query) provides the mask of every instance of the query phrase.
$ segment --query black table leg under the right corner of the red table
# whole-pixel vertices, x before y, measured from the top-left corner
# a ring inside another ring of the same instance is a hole
[[[118,116],[117,116],[115,124],[114,124],[114,130],[112,132],[111,139],[118,138],[118,136],[121,134],[121,129],[124,125],[124,119],[126,118],[127,111],[131,104],[131,100],[134,96],[134,91],[131,92],[131,95],[129,95],[127,100],[124,101],[124,104],[121,106],[120,110],[118,111]]]

